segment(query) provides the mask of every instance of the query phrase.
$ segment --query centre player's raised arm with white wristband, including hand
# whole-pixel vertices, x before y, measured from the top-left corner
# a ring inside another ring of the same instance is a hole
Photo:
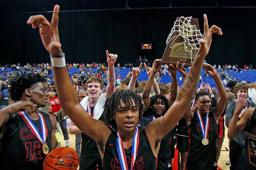
[[[103,121],[95,120],[89,116],[80,105],[76,91],[70,81],[69,73],[64,61],[64,54],[61,50],[58,14],[60,6],[56,5],[53,10],[52,22],[48,22],[43,15],[31,16],[27,24],[35,29],[39,26],[39,32],[43,45],[52,56],[53,74],[56,90],[65,113],[77,125],[82,132],[93,138],[96,142],[105,144],[111,131]]]

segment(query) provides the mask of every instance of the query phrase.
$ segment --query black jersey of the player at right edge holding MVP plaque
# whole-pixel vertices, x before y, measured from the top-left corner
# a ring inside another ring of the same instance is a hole
[[[247,130],[248,133],[256,135],[256,109],[254,110],[251,120],[249,121],[249,123],[247,124]],[[246,142],[244,145],[244,148],[242,150],[242,153],[239,157],[239,160],[237,161],[237,166],[236,166],[237,170],[255,170],[256,168],[254,166],[252,166],[251,164],[249,164],[249,156],[248,156],[248,141],[246,138]]]

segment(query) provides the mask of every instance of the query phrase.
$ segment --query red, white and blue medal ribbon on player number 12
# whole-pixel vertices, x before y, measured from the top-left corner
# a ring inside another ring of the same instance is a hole
[[[42,144],[45,144],[48,133],[47,133],[47,127],[46,127],[43,115],[40,112],[37,112],[40,119],[40,123],[41,123],[41,131],[42,131],[42,134],[41,134],[39,129],[35,126],[34,122],[31,120],[31,118],[27,115],[26,112],[18,112],[18,113],[26,122],[28,127],[34,133],[34,135],[40,140],[40,142]]]

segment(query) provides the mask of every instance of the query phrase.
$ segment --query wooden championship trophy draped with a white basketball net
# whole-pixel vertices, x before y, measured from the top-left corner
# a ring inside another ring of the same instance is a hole
[[[185,63],[185,66],[191,67],[200,46],[198,40],[202,38],[198,18],[178,17],[166,40],[163,61],[157,61],[157,63],[176,65],[179,61],[179,65]],[[203,68],[208,67],[203,66]]]

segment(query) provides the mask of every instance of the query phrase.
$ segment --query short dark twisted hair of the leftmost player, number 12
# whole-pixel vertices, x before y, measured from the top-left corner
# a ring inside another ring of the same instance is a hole
[[[16,72],[9,81],[11,87],[8,88],[10,99],[17,101],[21,98],[25,89],[31,88],[37,82],[45,82],[46,80],[38,73]]]

